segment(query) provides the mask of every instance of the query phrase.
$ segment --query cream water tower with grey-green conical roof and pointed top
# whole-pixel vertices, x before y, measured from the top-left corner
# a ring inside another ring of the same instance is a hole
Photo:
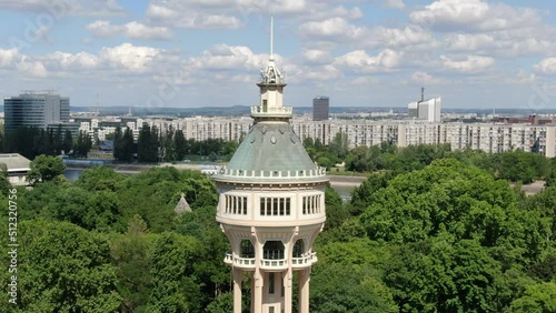
[[[289,124],[292,108],[282,104],[286,83],[270,47],[257,84],[260,103],[251,108],[254,124],[228,165],[214,175],[216,219],[231,245],[225,263],[232,269],[234,313],[242,312],[244,273],[251,283],[252,313],[291,313],[294,271],[296,311],[308,313],[310,269],[317,262],[311,246],[326,220],[328,179]]]

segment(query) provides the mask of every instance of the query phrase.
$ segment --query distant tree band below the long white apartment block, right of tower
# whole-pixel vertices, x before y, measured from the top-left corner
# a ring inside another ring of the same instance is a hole
[[[324,145],[318,140],[314,142],[311,139],[306,140],[304,144],[309,156],[319,165],[331,168],[336,163],[345,162],[347,171],[361,173],[391,171],[399,174],[421,170],[438,159],[454,158],[486,170],[495,178],[513,182],[527,184],[543,179],[550,184],[556,180],[555,160],[522,150],[488,154],[480,150],[451,151],[448,143],[397,148],[393,143],[383,142],[380,145],[359,145],[348,151],[347,145],[340,144],[344,143],[344,135],[338,133],[329,145]]]

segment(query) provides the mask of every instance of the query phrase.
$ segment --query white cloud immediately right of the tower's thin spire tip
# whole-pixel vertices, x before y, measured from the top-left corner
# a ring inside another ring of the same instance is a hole
[[[345,19],[332,18],[320,22],[306,22],[299,27],[304,36],[335,37],[338,41],[342,39],[360,39],[366,29],[349,24]]]

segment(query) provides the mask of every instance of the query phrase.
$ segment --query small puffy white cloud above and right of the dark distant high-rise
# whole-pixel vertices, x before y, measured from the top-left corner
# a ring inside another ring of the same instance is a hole
[[[386,49],[377,55],[369,55],[364,50],[356,50],[336,58],[335,65],[345,67],[357,72],[390,71],[401,62],[403,53]]]

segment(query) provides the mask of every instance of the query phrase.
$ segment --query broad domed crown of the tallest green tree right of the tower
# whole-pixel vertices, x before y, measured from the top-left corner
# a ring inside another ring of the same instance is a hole
[[[361,215],[370,239],[415,242],[447,230],[488,245],[507,226],[507,209],[516,205],[507,183],[453,159],[397,175],[370,202]]]

